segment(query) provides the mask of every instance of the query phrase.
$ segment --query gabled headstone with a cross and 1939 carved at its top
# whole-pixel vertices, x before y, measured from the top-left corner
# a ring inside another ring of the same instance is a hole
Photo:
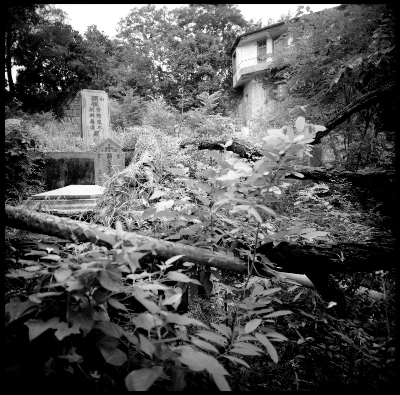
[[[125,154],[121,144],[111,137],[106,138],[95,148],[94,154],[94,184],[103,185],[104,175],[112,176],[125,168]]]

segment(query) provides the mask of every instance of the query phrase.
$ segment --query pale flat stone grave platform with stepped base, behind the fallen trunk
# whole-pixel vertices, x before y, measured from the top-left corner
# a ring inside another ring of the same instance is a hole
[[[41,194],[32,195],[24,206],[62,217],[82,215],[94,209],[104,187],[99,185],[69,185]]]

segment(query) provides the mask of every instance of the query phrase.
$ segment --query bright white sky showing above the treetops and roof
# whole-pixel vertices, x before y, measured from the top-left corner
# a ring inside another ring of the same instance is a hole
[[[132,8],[141,8],[147,4],[53,4],[56,8],[61,8],[68,14],[72,28],[78,30],[83,36],[88,26],[95,24],[98,30],[104,31],[110,38],[116,35],[116,29],[120,18],[128,15]],[[186,4],[156,4],[158,7],[166,6],[174,9]],[[331,8],[339,4],[302,4],[310,6],[312,11],[320,11],[324,8]],[[237,4],[246,20],[262,19],[263,26],[269,18],[279,18],[288,10],[296,14],[298,4]]]

